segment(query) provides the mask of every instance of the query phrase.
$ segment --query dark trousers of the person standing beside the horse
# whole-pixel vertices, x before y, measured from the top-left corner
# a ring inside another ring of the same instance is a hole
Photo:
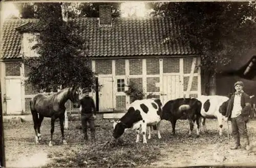
[[[94,128],[94,118],[92,113],[81,114],[81,123],[82,123],[82,132],[84,135],[84,139],[88,139],[87,134],[87,123],[89,123],[91,138],[95,139],[95,128]]]

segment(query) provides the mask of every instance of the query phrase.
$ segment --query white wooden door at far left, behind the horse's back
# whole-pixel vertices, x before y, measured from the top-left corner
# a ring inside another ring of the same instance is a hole
[[[22,111],[22,84],[20,79],[6,79],[6,113],[20,114]]]

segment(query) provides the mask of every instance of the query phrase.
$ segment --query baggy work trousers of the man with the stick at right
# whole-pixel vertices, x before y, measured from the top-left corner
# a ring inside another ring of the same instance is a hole
[[[231,118],[231,129],[236,146],[240,146],[240,137],[244,140],[245,146],[249,145],[246,122],[241,114],[237,117]]]

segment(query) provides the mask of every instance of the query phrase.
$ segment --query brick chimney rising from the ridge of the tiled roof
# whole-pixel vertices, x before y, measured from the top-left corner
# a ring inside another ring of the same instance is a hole
[[[112,10],[110,5],[99,6],[99,26],[112,26]]]

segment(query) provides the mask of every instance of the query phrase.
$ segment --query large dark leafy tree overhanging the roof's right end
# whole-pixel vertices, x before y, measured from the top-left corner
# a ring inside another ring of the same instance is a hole
[[[152,3],[152,8],[153,15],[171,16],[183,26],[173,40],[189,42],[200,52],[206,83],[233,56],[255,46],[255,2]]]

